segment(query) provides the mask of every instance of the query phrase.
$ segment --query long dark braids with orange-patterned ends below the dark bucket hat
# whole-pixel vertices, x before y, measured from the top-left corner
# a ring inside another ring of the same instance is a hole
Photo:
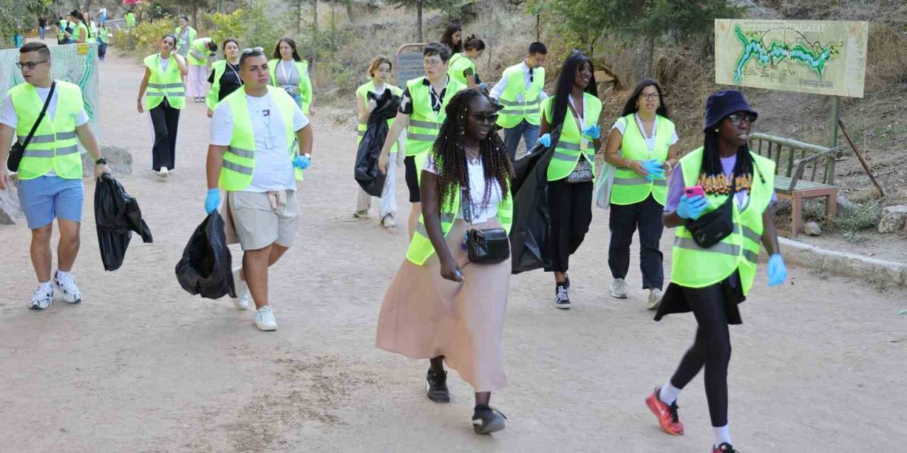
[[[714,128],[706,130],[703,140],[702,166],[699,168],[697,184],[709,195],[731,195],[731,181],[725,177],[721,167],[721,156],[718,153],[718,132]],[[753,156],[749,154],[749,145],[743,144],[736,151],[733,178],[736,179],[735,191],[751,191],[753,188]],[[759,175],[762,178],[762,175]]]

